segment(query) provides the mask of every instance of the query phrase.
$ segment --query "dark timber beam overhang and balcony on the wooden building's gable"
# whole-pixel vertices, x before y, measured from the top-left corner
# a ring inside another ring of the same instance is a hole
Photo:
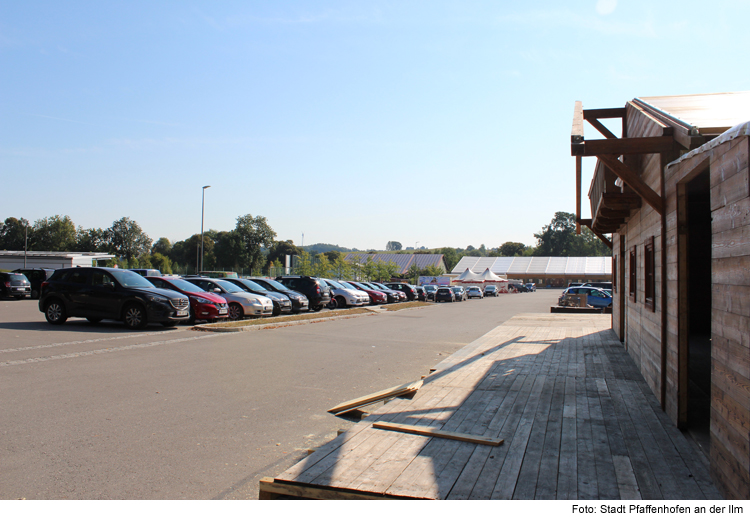
[[[643,109],[632,104],[635,109]],[[623,108],[600,108],[584,110],[581,101],[576,101],[573,112],[573,128],[570,135],[571,155],[576,157],[576,222],[588,226],[609,247],[612,247],[605,233],[614,233],[630,216],[630,211],[641,207],[642,201],[649,204],[659,214],[663,214],[662,198],[643,182],[640,174],[625,165],[620,159],[627,154],[658,154],[671,152],[679,145],[675,143],[674,127],[649,115],[660,126],[662,135],[651,137],[627,137],[627,110]],[[600,119],[620,119],[622,137],[617,137]],[[585,139],[584,122],[588,122],[605,139]],[[687,137],[687,136],[686,136]],[[596,157],[597,165],[589,191],[591,219],[581,218],[581,159]],[[623,182],[622,187],[614,184]]]

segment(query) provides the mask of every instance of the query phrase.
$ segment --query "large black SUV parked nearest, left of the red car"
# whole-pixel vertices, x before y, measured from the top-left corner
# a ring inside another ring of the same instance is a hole
[[[174,326],[190,317],[190,300],[183,294],[156,288],[130,270],[63,268],[42,284],[39,311],[50,324],[68,317],[92,323],[116,319],[130,329],[148,323]]]

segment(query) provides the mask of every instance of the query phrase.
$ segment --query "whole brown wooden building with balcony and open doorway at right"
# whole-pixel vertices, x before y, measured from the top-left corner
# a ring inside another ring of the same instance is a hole
[[[577,218],[612,237],[612,327],[731,499],[750,499],[749,121],[750,92],[643,97],[577,102],[571,134]]]

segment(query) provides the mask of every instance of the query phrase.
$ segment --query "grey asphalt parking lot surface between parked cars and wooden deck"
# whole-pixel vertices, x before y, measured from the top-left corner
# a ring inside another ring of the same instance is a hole
[[[277,330],[44,321],[0,301],[0,499],[247,499],[349,425],[325,410],[418,379],[559,291]]]

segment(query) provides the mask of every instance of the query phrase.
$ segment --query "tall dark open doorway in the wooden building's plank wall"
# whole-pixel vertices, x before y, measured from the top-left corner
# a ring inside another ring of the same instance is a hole
[[[687,198],[687,428],[706,456],[711,425],[711,193],[705,171],[685,185]]]

